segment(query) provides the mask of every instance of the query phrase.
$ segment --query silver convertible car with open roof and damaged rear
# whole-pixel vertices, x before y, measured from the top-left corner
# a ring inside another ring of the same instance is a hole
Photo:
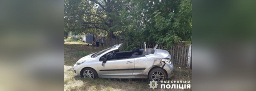
[[[166,80],[173,76],[171,55],[163,49],[134,47],[121,51],[121,44],[80,58],[74,65],[75,76],[90,78],[149,78]]]

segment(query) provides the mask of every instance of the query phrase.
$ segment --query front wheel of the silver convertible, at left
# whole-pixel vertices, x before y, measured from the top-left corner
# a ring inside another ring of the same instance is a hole
[[[92,68],[84,68],[82,77],[84,78],[98,78],[98,73]]]

